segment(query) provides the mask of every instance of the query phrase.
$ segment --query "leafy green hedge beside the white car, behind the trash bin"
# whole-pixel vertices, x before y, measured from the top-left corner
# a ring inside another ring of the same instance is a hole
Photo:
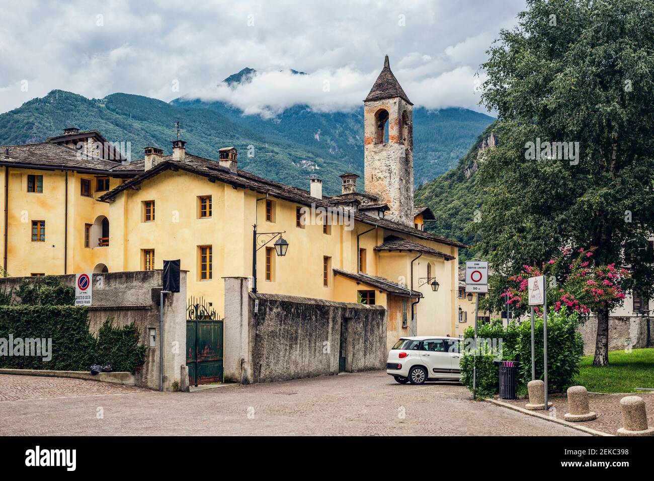
[[[576,313],[565,310],[551,312],[547,316],[547,382],[549,392],[560,393],[572,385],[579,374],[579,361],[583,354],[583,340],[577,332],[579,318]],[[472,328],[464,332],[464,340],[474,337]],[[499,391],[499,369],[492,361],[517,361],[518,389],[524,391],[531,380],[531,322],[511,323],[508,327],[496,320],[477,327],[477,338],[502,339],[502,355],[494,358],[490,349],[486,355],[477,356],[477,395],[490,397]],[[543,379],[543,319],[534,321],[536,358],[536,379]],[[463,346],[466,343],[464,341]],[[489,346],[490,347],[490,346]],[[474,356],[470,349],[464,349],[460,359],[461,382],[472,391]]]

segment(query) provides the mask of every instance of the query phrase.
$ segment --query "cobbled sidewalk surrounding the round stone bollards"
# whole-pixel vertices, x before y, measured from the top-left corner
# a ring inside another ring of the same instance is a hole
[[[625,396],[640,396],[645,401],[645,409],[647,410],[647,419],[650,426],[654,426],[654,394],[649,393],[635,393],[635,394],[589,394],[588,404],[591,411],[597,414],[597,419],[593,421],[579,422],[580,426],[589,427],[602,431],[602,433],[609,433],[614,435],[618,428],[622,427],[622,414],[620,412],[620,400]],[[549,401],[552,403],[551,416],[559,419],[564,419],[563,416],[568,412],[568,398],[566,396],[550,397]],[[507,402],[515,406],[525,407],[528,402],[527,399],[518,399],[517,401],[508,401],[502,399],[502,402]],[[544,413],[544,411],[542,411]]]

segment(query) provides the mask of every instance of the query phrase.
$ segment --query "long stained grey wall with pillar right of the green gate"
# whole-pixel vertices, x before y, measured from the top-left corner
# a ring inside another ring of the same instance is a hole
[[[245,277],[225,279],[226,381],[270,382],[339,372],[345,323],[345,372],[386,363],[385,309],[347,302],[251,294]]]

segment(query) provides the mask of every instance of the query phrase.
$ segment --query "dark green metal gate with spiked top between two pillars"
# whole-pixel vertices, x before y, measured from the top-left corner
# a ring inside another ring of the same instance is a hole
[[[222,382],[223,319],[202,298],[186,307],[186,365],[191,385]]]

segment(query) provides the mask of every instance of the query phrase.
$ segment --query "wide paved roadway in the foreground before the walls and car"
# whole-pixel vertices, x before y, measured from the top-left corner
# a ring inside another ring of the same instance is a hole
[[[0,399],[0,435],[583,435],[383,371],[196,393],[0,375]]]

